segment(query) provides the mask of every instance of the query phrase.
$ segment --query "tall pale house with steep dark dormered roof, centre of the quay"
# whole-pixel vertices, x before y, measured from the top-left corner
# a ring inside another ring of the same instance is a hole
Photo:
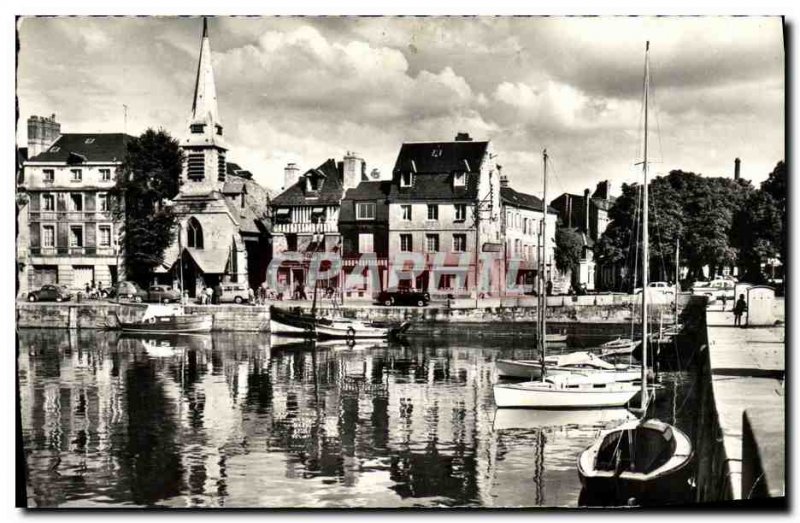
[[[390,272],[399,275],[406,268],[397,262],[402,253],[418,253],[425,260],[422,273],[414,281],[398,281],[400,285],[434,296],[468,295],[474,292],[476,276],[488,274],[479,292],[500,293],[500,180],[490,142],[459,133],[449,142],[404,143],[388,201]],[[460,263],[462,259],[468,263]],[[435,266],[443,270],[434,272]],[[466,274],[453,270],[460,267]]]

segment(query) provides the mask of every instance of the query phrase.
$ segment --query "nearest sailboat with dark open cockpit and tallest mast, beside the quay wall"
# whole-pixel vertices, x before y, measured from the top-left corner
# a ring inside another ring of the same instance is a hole
[[[648,198],[647,198],[647,113],[650,83],[650,42],[645,48],[644,82],[644,160],[642,162],[642,277],[648,279]],[[578,475],[587,492],[605,502],[639,503],[684,501],[691,474],[692,444],[688,436],[672,425],[656,419],[644,420],[647,413],[647,336],[648,299],[642,293],[642,394],[636,419],[601,433],[578,457]]]

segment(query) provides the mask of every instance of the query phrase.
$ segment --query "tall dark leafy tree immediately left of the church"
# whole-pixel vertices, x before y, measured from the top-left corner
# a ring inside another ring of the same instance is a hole
[[[176,219],[168,202],[180,187],[183,152],[166,131],[148,129],[128,142],[121,176],[111,196],[122,223],[125,271],[146,285],[175,238]]]

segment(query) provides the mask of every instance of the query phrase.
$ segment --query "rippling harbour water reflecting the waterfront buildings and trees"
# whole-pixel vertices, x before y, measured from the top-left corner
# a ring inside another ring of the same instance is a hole
[[[495,415],[519,342],[19,339],[37,506],[574,506],[577,454],[620,414]]]

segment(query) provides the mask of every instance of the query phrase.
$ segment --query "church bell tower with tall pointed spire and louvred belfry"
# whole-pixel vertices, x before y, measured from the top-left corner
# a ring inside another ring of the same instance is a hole
[[[227,176],[227,146],[219,121],[217,89],[211,65],[211,42],[208,38],[208,20],[205,17],[187,131],[185,138],[181,140],[184,153],[181,192],[208,194],[221,191]]]

